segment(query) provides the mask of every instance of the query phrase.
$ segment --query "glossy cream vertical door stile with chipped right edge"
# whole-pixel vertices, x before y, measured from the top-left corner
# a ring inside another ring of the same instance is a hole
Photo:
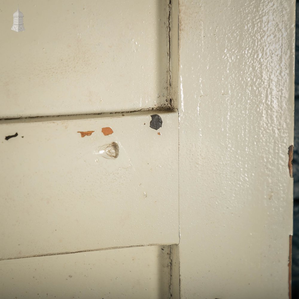
[[[294,15],[180,1],[181,298],[288,298]]]

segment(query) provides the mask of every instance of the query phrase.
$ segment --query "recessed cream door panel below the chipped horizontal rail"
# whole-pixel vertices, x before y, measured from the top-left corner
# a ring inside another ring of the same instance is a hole
[[[0,261],[1,298],[170,298],[170,246]]]

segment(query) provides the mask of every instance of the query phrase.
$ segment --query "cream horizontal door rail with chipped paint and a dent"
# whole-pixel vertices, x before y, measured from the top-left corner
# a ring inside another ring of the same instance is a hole
[[[177,244],[178,114],[160,115],[161,136],[149,114],[2,121],[0,259]]]

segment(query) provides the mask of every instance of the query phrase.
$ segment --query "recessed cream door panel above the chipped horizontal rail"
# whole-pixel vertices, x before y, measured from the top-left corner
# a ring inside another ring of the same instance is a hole
[[[167,0],[1,1],[0,117],[169,104]],[[50,92],[49,92],[50,91]]]

